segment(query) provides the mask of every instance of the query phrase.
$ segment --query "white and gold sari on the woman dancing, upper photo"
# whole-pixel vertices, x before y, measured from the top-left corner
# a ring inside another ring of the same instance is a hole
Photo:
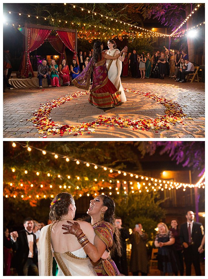
[[[108,50],[106,53],[111,56],[115,56],[115,52],[118,49]],[[119,50],[118,50],[119,51]],[[121,102],[126,102],[126,95],[124,93],[124,88],[121,84],[121,70],[122,62],[119,59],[115,60],[106,60],[106,67],[108,69],[108,78],[114,84],[118,91],[121,91]]]

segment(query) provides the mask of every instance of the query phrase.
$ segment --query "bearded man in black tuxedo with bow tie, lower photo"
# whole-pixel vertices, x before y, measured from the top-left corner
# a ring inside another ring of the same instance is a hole
[[[24,220],[24,229],[18,232],[15,247],[18,276],[38,276],[38,253],[33,225],[33,219],[27,217]],[[15,239],[12,240],[15,242]],[[28,270],[30,271],[28,272]]]

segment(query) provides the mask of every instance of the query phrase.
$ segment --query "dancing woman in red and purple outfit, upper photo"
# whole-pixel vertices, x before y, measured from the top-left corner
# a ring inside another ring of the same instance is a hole
[[[94,43],[93,58],[81,74],[75,78],[73,84],[81,89],[88,90],[90,86],[90,74],[93,66],[93,85],[90,89],[90,97],[88,101],[96,107],[107,108],[115,107],[121,103],[118,89],[108,79],[108,71],[106,68],[106,59],[117,59],[127,50],[125,47],[116,56],[110,56],[102,52],[103,45],[100,41]]]

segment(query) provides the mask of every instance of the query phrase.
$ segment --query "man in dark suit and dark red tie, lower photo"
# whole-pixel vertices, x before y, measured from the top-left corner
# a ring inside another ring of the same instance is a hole
[[[200,254],[198,247],[203,238],[203,226],[194,222],[194,212],[186,213],[187,223],[180,228],[180,240],[184,247],[184,261],[186,265],[186,276],[191,276],[191,264],[193,263],[196,276],[201,276]]]

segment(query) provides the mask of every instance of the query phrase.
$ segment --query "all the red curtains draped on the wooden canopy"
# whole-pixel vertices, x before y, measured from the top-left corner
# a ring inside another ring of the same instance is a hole
[[[34,77],[33,68],[30,63],[30,53],[33,50],[39,48],[44,43],[44,41],[49,37],[49,34],[52,30],[33,27],[25,28],[27,28],[27,50],[26,47],[24,47],[25,51],[19,71],[21,72],[21,76],[25,76],[26,78],[28,78],[29,71],[32,72],[32,76]],[[61,53],[60,61],[61,59],[66,58],[65,46],[67,46],[68,49],[74,53],[73,59],[75,59],[77,54],[75,50],[75,33],[58,30],[56,32],[60,37],[60,40],[52,40],[53,38],[49,38],[48,40],[55,48],[55,50]]]

